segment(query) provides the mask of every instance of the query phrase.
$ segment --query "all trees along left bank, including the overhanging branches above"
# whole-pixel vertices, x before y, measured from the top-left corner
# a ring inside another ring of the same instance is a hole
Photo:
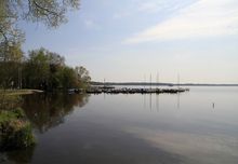
[[[80,0],[0,1],[0,87],[45,91],[87,87],[89,71],[65,65],[63,56],[45,49],[23,56],[24,31],[19,20],[42,23],[56,28],[67,22],[66,13],[78,10]]]

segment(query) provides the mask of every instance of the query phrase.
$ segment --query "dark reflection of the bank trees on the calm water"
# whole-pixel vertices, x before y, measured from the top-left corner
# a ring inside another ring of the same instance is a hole
[[[34,127],[40,133],[64,123],[64,117],[74,107],[83,107],[89,95],[36,94],[24,97],[23,109]]]

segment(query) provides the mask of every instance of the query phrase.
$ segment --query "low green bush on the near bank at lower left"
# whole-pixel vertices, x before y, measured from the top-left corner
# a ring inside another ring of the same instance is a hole
[[[26,148],[35,144],[32,128],[22,109],[0,111],[0,148]]]

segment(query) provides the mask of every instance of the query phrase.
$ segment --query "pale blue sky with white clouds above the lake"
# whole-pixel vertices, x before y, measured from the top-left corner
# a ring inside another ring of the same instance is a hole
[[[81,0],[67,17],[22,24],[24,51],[56,52],[93,81],[238,83],[237,0]]]

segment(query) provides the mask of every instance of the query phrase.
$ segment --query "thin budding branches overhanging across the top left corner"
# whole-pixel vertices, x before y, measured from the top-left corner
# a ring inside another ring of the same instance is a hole
[[[78,8],[79,0],[1,0],[0,22],[9,27],[19,19],[57,27],[67,22],[68,10]]]

